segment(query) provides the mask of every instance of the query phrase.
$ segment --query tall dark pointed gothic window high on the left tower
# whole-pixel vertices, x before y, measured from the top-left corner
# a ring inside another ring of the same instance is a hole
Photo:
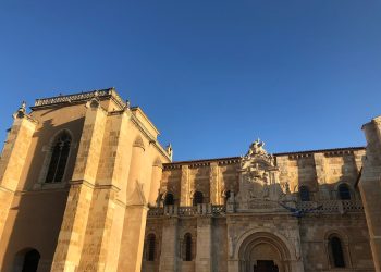
[[[62,182],[65,172],[72,137],[67,132],[59,134],[51,147],[51,158],[46,183]]]

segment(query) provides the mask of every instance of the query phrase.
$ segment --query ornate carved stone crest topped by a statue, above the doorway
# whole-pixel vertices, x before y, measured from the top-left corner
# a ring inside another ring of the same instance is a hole
[[[255,140],[241,158],[238,208],[278,209],[283,196],[274,157],[265,150],[265,143]]]

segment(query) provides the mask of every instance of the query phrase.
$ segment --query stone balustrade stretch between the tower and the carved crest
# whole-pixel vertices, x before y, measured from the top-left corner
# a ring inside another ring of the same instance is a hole
[[[163,208],[150,208],[148,217],[195,217],[195,215],[224,215],[225,206],[200,203],[197,206],[179,207],[176,205],[164,206]]]

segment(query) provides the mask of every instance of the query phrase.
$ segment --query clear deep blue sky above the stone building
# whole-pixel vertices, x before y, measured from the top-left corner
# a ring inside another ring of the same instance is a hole
[[[174,160],[362,146],[381,114],[381,1],[0,3],[1,140],[22,100],[114,86]]]

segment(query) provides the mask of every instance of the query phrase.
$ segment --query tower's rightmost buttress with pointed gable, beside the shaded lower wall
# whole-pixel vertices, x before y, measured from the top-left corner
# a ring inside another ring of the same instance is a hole
[[[139,272],[142,267],[144,235],[148,212],[147,200],[143,190],[144,181],[142,181],[143,171],[145,171],[145,165],[143,164],[144,152],[144,141],[138,136],[133,145],[130,165],[126,211],[118,271]]]

